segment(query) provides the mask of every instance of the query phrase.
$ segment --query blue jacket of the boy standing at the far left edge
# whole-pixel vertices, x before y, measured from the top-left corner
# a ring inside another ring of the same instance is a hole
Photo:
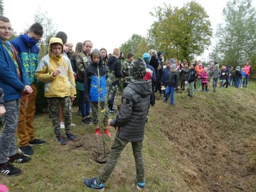
[[[6,42],[6,46],[11,51],[11,43]],[[16,50],[15,50],[16,51]],[[15,54],[14,54],[15,55]],[[18,55],[17,60],[18,60]],[[19,60],[18,60],[19,61]],[[0,39],[0,87],[4,90],[4,101],[17,100],[21,98],[21,91],[25,85],[29,85],[22,65],[19,65],[21,79],[18,78],[17,68],[8,50],[4,47]],[[17,62],[20,63],[20,62]]]

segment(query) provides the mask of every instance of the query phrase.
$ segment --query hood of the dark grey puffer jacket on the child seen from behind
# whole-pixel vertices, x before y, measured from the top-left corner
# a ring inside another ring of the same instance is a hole
[[[131,87],[139,95],[142,95],[142,97],[151,95],[152,92],[151,80],[134,81],[130,82],[127,86]]]

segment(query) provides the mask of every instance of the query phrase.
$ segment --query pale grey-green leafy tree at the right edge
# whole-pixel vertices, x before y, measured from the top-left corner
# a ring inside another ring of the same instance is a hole
[[[210,58],[215,59],[218,55],[224,65],[255,60],[256,10],[252,0],[228,1],[223,17],[224,23],[218,25],[218,40]]]

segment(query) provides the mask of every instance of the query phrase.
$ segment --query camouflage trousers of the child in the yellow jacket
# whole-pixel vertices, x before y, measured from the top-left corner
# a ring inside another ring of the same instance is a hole
[[[65,133],[71,132],[71,120],[72,120],[72,103],[70,97],[48,97],[48,107],[50,111],[50,118],[53,122],[53,130],[56,137],[61,136],[60,120],[59,120],[59,103],[63,110],[63,116],[65,120]]]

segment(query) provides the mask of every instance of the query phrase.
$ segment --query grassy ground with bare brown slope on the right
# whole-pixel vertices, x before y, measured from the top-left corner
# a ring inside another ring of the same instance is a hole
[[[144,191],[256,191],[256,84],[217,92],[176,92],[176,105],[157,95],[151,107],[144,139],[146,187]],[[16,164],[20,176],[0,177],[10,191],[87,191],[85,177],[96,176],[94,161],[101,147],[94,127],[84,126],[73,109],[78,141],[60,146],[48,114],[35,117],[37,138],[27,164]],[[114,128],[110,129],[114,136]],[[107,146],[114,138],[107,138]],[[96,150],[97,151],[97,150]],[[106,183],[105,191],[137,191],[130,144]]]

